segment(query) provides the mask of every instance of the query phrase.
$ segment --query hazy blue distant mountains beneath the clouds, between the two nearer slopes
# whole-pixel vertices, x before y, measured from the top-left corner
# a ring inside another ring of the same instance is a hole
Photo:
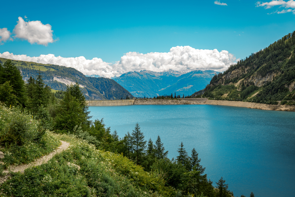
[[[121,86],[135,97],[154,97],[157,95],[191,95],[204,89],[212,77],[219,72],[191,71],[191,72],[154,72],[149,70],[127,72],[114,78]]]

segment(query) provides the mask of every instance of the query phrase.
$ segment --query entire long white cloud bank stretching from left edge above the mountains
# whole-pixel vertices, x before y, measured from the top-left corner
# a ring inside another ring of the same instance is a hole
[[[129,71],[150,70],[163,72],[215,70],[224,71],[236,58],[228,51],[195,49],[190,46],[172,47],[168,53],[137,53],[128,52],[114,64],[104,62],[101,58],[86,59],[83,56],[76,58],[55,57],[53,54],[30,57],[27,55],[14,55],[13,53],[0,53],[0,57],[22,61],[33,61],[42,64],[56,64],[73,67],[85,75],[99,75],[105,77],[119,76]]]

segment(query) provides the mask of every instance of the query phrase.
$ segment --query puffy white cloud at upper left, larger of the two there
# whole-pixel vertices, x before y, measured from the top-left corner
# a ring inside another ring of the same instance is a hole
[[[41,21],[25,22],[22,17],[18,17],[17,25],[14,27],[14,37],[28,40],[29,43],[47,46],[53,43],[51,25],[43,25]]]

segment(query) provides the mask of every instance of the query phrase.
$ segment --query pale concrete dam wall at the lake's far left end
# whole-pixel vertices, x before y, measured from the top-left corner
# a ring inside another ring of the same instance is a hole
[[[125,100],[86,100],[88,106],[120,106],[120,105],[133,105],[135,99]]]

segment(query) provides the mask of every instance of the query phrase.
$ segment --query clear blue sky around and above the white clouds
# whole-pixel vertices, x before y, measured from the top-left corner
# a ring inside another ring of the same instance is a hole
[[[2,42],[0,53],[84,56],[115,63],[128,52],[167,53],[172,47],[190,46],[226,50],[238,59],[295,30],[294,0],[288,5],[265,1],[274,5],[268,9],[252,0],[214,2],[3,1],[0,28],[11,32],[13,41]],[[226,5],[218,5],[222,3]],[[51,25],[54,42],[45,46],[13,37],[18,17]]]

